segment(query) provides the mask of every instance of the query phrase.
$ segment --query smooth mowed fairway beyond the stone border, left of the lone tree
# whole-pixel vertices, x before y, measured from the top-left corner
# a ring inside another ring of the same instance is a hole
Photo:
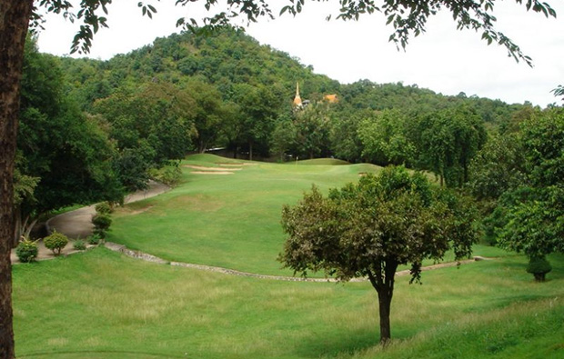
[[[183,165],[218,168],[226,163],[243,162],[192,155]],[[285,239],[280,225],[283,204],[296,204],[312,184],[327,192],[358,181],[359,173],[379,170],[375,165],[317,162],[252,163],[236,168],[233,175],[197,175],[194,172],[201,169],[183,167],[183,184],[118,211],[108,240],[170,261],[291,274],[277,262]]]

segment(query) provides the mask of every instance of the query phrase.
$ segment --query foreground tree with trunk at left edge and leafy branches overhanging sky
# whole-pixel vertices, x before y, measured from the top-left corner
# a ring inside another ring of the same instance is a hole
[[[193,0],[178,0],[176,5],[186,5]],[[209,8],[217,5],[216,0],[202,0]],[[547,3],[538,0],[516,0],[525,3],[528,10],[556,16],[555,11]],[[425,32],[427,19],[436,15],[438,10],[446,8],[452,15],[458,28],[472,28],[482,31],[482,38],[488,43],[496,42],[508,49],[509,55],[523,59],[529,63],[529,57],[522,54],[506,35],[496,30],[496,18],[491,15],[495,0],[480,2],[466,0],[438,0],[414,3],[407,0],[383,2],[380,7],[368,0],[339,0],[340,14],[343,19],[357,19],[358,15],[381,11],[388,16],[388,23],[394,25],[395,32],[390,36],[392,41],[405,46],[411,35]],[[291,14],[299,13],[305,0],[290,1],[283,11]],[[12,325],[12,271],[10,264],[11,239],[14,235],[14,163],[15,135],[17,134],[20,78],[24,57],[25,35],[30,24],[40,26],[41,16],[37,7],[47,12],[78,19],[82,24],[73,41],[73,51],[88,52],[97,30],[107,27],[107,7],[111,0],[85,0],[73,8],[68,0],[3,0],[0,2],[0,357],[15,356],[14,331]],[[272,16],[265,0],[227,0],[227,12],[207,19],[208,23],[221,24],[229,16],[242,15],[247,20],[256,21],[260,16]],[[152,5],[139,2],[143,15],[152,16],[156,9]],[[76,11],[76,12],[75,12]],[[179,19],[177,25],[186,24]]]

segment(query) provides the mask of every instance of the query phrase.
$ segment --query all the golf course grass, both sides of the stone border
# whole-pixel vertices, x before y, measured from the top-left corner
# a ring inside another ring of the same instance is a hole
[[[291,275],[276,260],[284,242],[282,205],[295,204],[312,183],[325,192],[379,169],[241,164],[213,155],[188,157],[182,163],[184,182],[118,210],[108,240],[171,261]],[[232,174],[208,174],[213,171]],[[377,294],[368,282],[287,282],[218,274],[148,263],[103,247],[17,264],[16,354],[142,359],[564,357],[564,255],[549,256],[553,270],[539,284],[525,272],[522,255],[485,245],[477,245],[474,252],[495,259],[424,272],[423,284],[397,277],[393,339],[386,348],[378,345]]]

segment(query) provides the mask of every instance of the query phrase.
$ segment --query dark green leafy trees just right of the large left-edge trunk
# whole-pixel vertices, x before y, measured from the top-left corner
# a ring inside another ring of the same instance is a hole
[[[96,120],[63,95],[57,59],[39,54],[31,38],[24,70],[15,179],[16,194],[25,192],[17,195],[16,239],[39,214],[123,196],[111,165],[113,145]]]

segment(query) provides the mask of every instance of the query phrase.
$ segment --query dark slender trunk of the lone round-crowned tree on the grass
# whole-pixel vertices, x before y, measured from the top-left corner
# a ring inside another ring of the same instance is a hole
[[[389,315],[391,314],[392,297],[394,296],[394,276],[398,269],[395,261],[384,261],[380,264],[379,273],[368,272],[368,279],[378,293],[378,312],[380,317],[380,344],[386,345],[392,337]]]

